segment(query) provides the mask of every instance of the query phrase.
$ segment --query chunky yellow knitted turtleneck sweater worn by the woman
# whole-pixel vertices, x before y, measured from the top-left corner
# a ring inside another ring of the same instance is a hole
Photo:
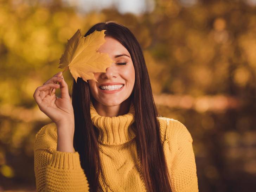
[[[146,191],[136,152],[132,126],[134,105],[129,113],[117,117],[100,116],[90,103],[92,123],[98,137],[102,171],[100,187],[109,192]],[[177,120],[158,117],[162,147],[171,175],[173,192],[197,192],[198,180],[192,137]],[[57,149],[57,127],[49,123],[36,134],[34,172],[37,191],[88,192],[89,184],[80,165],[79,153]],[[100,190],[99,190],[100,191]]]

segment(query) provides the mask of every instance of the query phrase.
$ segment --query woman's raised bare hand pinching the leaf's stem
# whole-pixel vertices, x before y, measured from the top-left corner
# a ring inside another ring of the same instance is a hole
[[[59,84],[55,84],[59,82]],[[51,92],[53,88],[53,91]],[[60,88],[61,96],[57,98],[56,89]],[[38,87],[33,95],[39,109],[43,111],[57,127],[63,124],[74,124],[74,112],[69,96],[68,84],[64,81],[62,72],[55,74],[42,86]]]

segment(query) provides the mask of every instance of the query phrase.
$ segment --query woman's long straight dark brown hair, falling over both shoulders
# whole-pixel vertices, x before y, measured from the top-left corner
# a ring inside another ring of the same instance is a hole
[[[169,192],[169,174],[161,145],[160,125],[155,107],[151,83],[140,44],[125,26],[109,21],[92,26],[84,35],[95,30],[107,30],[105,35],[118,40],[130,53],[134,69],[135,84],[130,99],[135,106],[135,141],[140,158],[142,175],[147,191]],[[91,121],[89,85],[82,78],[73,80],[72,105],[75,115],[74,148],[79,153],[81,167],[87,176],[90,191],[96,192],[99,185],[100,155],[98,130]],[[143,121],[141,121],[143,120]]]

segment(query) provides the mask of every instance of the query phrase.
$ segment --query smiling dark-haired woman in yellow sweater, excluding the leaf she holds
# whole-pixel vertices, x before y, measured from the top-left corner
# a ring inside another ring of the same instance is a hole
[[[98,82],[74,79],[72,103],[61,72],[34,92],[53,121],[36,134],[37,191],[198,191],[191,134],[158,116],[138,41],[116,22],[85,36],[95,30],[107,30],[98,52],[115,61]]]

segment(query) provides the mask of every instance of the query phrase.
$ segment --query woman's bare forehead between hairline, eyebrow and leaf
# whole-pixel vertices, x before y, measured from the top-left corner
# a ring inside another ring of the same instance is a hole
[[[119,55],[126,53],[130,56],[129,51],[116,39],[112,37],[105,37],[105,43],[101,45],[98,52],[109,53],[109,55]]]

